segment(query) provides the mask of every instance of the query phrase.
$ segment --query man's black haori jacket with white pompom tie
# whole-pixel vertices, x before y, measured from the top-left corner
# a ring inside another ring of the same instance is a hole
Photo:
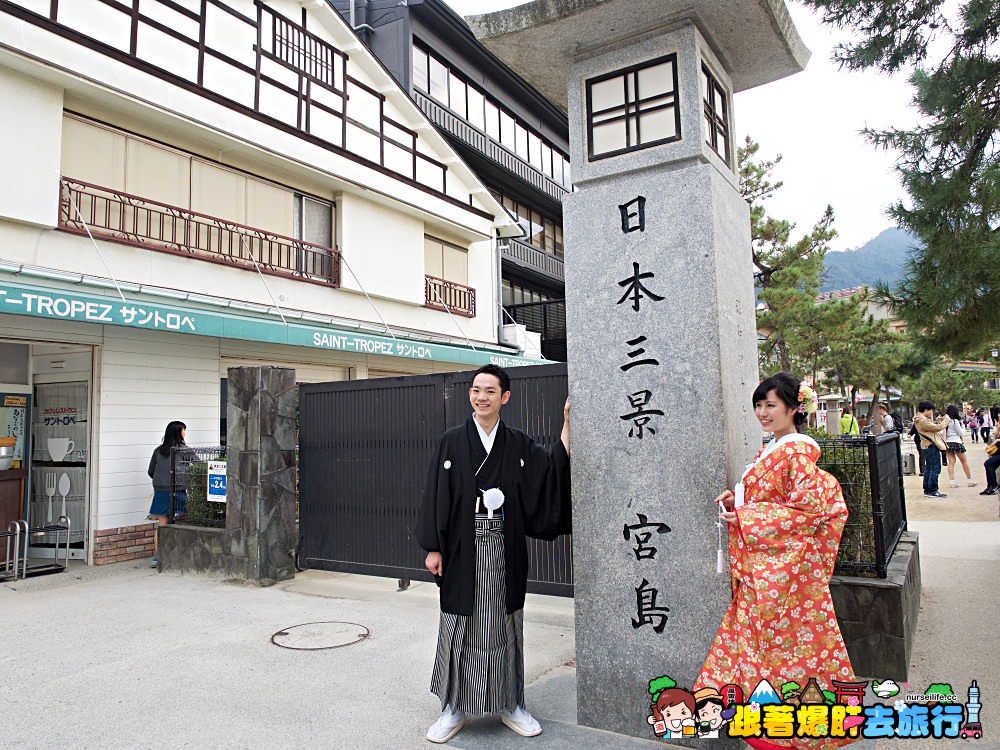
[[[417,543],[443,558],[441,611],[471,615],[476,590],[476,495],[473,443],[482,449],[472,417],[448,430],[431,459]],[[562,441],[546,449],[501,420],[493,450],[501,446],[499,488],[504,493],[504,565],[508,614],[524,607],[528,583],[525,537],[555,539],[572,531],[569,456]],[[491,453],[492,457],[492,453]],[[488,489],[485,488],[485,489]]]

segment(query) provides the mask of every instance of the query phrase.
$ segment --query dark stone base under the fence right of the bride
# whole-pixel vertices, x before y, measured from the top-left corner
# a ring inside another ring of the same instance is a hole
[[[885,580],[834,576],[830,594],[857,677],[908,682],[920,613],[919,535],[903,533]]]

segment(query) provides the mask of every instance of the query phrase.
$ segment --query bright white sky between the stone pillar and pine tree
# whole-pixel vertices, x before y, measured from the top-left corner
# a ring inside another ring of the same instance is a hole
[[[522,1],[446,0],[462,15]],[[894,226],[886,207],[905,196],[893,170],[895,155],[876,150],[860,131],[912,126],[911,89],[905,75],[840,70],[831,54],[848,32],[825,26],[794,0],[786,4],[812,57],[802,73],[736,94],[736,143],[749,135],[760,144],[758,158],[782,155],[774,176],[784,186],[765,206],[771,216],[796,224],[793,241],[831,205],[838,233],[831,249],[860,247]]]

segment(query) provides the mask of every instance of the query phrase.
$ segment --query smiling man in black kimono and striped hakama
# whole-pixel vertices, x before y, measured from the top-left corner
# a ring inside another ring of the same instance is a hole
[[[444,434],[428,472],[417,541],[441,587],[431,692],[442,714],[431,742],[454,737],[468,714],[499,712],[525,737],[542,731],[524,709],[525,538],[571,531],[569,401],[560,441],[547,450],[500,421],[509,399],[507,373],[480,367],[473,414]]]

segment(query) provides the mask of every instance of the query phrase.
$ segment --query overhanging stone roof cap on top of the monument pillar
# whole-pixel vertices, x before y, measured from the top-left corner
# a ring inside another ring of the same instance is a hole
[[[491,52],[563,109],[574,62],[685,22],[708,40],[734,92],[798,73],[810,54],[783,0],[533,0],[466,21]]]

